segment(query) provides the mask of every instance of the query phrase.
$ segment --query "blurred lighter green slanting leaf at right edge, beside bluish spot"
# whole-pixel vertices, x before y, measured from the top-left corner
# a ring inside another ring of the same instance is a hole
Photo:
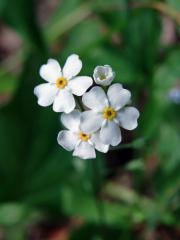
[[[155,71],[150,99],[141,118],[141,131],[146,137],[159,132],[164,113],[172,106],[169,91],[176,86],[180,76],[179,59],[180,51],[176,49]]]

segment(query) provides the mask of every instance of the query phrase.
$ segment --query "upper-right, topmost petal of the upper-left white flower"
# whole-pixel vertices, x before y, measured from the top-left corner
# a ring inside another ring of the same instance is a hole
[[[70,55],[63,68],[63,76],[67,79],[71,79],[76,76],[82,68],[82,62],[79,59],[79,56],[76,54]]]

